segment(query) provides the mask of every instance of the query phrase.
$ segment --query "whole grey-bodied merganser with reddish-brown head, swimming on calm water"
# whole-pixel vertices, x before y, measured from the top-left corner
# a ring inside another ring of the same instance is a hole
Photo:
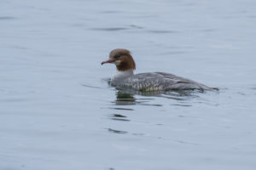
[[[136,69],[131,52],[124,48],[113,49],[109,59],[102,62],[116,65],[118,73],[110,80],[110,84],[116,88],[133,88],[139,91],[167,91],[167,90],[212,90],[199,82],[187,78],[177,77],[165,72],[148,72],[134,75]]]

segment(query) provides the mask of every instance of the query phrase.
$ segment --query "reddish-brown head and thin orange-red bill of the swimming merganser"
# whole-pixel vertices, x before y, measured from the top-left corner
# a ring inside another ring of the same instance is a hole
[[[131,52],[123,48],[113,49],[109,54],[109,59],[103,61],[102,65],[105,63],[115,64],[118,71],[129,71],[136,69],[136,65],[132,59]]]

